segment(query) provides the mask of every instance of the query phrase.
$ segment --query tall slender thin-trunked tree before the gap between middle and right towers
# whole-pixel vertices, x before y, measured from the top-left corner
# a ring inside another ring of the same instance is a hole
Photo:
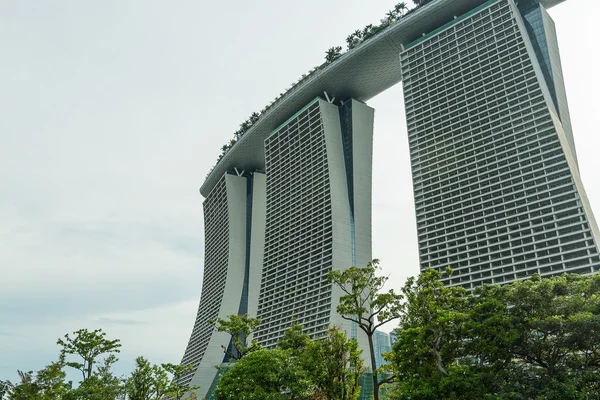
[[[356,323],[367,336],[375,400],[379,400],[380,386],[392,382],[393,376],[379,379],[373,336],[378,328],[400,316],[402,301],[402,295],[393,289],[382,292],[388,278],[377,276],[379,269],[379,260],[373,260],[364,268],[329,273],[330,282],[344,293],[337,306],[338,314]]]

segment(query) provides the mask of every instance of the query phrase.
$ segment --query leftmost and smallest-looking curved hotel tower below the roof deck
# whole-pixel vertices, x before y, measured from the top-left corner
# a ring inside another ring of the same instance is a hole
[[[211,320],[232,314],[256,315],[265,221],[265,175],[225,174],[204,201],[204,277],[196,322],[181,363],[194,370],[182,383],[206,394],[216,366],[227,362],[227,333]],[[202,397],[200,397],[202,398]]]

